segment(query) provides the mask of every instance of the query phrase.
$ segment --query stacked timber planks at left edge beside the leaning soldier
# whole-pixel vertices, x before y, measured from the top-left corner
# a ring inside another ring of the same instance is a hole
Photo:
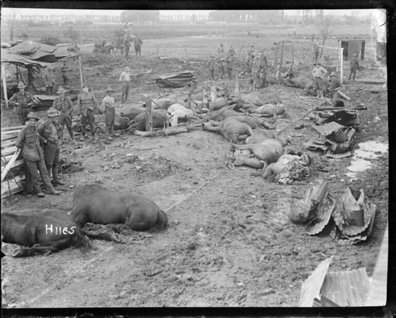
[[[25,180],[25,161],[21,150],[15,147],[22,127],[14,126],[1,130],[2,199],[24,190],[22,181]]]

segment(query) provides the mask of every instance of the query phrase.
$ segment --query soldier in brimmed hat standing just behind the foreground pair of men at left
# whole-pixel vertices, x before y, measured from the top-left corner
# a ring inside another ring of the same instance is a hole
[[[74,106],[71,99],[65,96],[66,92],[67,91],[62,86],[59,86],[57,92],[57,94],[59,94],[59,97],[55,98],[52,104],[52,107],[60,112],[58,117],[58,122],[60,126],[60,144],[63,143],[63,130],[65,128],[65,124],[70,134],[70,140],[73,140],[74,138],[73,129],[71,129],[71,113],[74,110]]]

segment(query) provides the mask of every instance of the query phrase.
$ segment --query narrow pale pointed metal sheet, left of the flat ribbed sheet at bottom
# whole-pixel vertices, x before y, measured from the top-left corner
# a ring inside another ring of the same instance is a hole
[[[327,270],[334,256],[323,260],[301,286],[298,307],[312,307],[315,297],[320,294],[320,289],[325,280]]]

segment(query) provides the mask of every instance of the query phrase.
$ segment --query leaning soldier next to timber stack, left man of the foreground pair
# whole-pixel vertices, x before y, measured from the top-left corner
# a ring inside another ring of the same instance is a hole
[[[30,112],[27,117],[27,126],[22,128],[15,142],[15,147],[22,149],[22,155],[25,159],[25,175],[28,180],[31,176],[33,187],[37,192],[38,197],[44,197],[41,190],[39,173],[43,179],[44,186],[49,195],[59,195],[60,191],[53,188],[51,181],[49,180],[48,170],[46,169],[44,162],[43,149],[40,146],[40,142],[46,143],[47,140],[43,138],[37,129],[37,117],[33,112]],[[29,175],[29,178],[28,178]],[[27,187],[29,185],[27,184]]]

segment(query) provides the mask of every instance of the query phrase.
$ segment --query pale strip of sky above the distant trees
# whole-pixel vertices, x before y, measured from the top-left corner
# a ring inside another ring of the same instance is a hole
[[[64,15],[64,14],[73,14],[73,15],[91,15],[91,14],[108,14],[108,15],[120,15],[123,10],[85,10],[85,9],[33,9],[33,8],[2,8],[2,14],[9,14],[14,11],[17,15]],[[183,14],[183,15],[206,15],[212,10],[159,10],[159,13],[162,15],[173,15],[173,14]],[[296,10],[285,10],[287,15],[296,14]],[[337,14],[337,15],[350,15],[352,11],[357,11],[358,16],[368,15],[373,9],[359,9],[359,10],[323,10],[323,13],[326,14]]]

